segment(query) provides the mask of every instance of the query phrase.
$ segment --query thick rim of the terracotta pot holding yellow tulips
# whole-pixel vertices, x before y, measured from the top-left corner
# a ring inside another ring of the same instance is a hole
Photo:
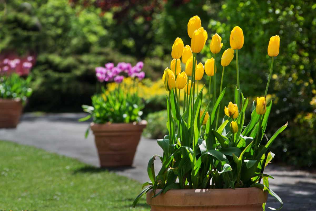
[[[156,194],[160,191],[161,189],[156,189]],[[147,203],[149,205],[166,207],[249,205],[265,203],[268,197],[267,192],[254,187],[236,189],[171,189],[166,194],[160,194],[155,198],[151,198],[153,195],[153,190],[147,193]]]

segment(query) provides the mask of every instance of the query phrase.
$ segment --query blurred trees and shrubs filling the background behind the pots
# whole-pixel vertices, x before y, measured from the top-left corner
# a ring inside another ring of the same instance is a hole
[[[176,36],[190,44],[186,25],[194,15],[200,16],[209,37],[198,57],[202,62],[212,57],[209,43],[214,33],[222,36],[223,52],[232,28],[243,29],[240,84],[244,95],[253,99],[264,94],[271,62],[267,46],[270,36],[279,34],[280,54],[268,91],[274,102],[268,136],[289,121],[273,148],[283,152],[276,153],[276,161],[315,167],[315,13],[316,3],[303,0],[0,0],[0,50],[37,55],[27,111],[75,112],[91,104],[97,84],[94,68],[106,62],[135,65],[143,60],[146,77],[151,78],[146,83],[160,79],[170,65]],[[225,69],[227,103],[236,84],[235,67],[233,60]],[[220,74],[217,77],[219,81]],[[155,89],[145,100],[149,110],[144,117],[150,121],[146,134],[161,138],[166,114],[159,110],[165,109],[165,96],[154,93]]]

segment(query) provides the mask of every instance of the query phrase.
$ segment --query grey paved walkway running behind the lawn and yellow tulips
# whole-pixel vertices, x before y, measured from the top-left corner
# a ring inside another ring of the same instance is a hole
[[[88,139],[84,139],[88,123],[77,122],[83,116],[85,114],[45,116],[24,114],[16,129],[0,129],[0,140],[36,146],[99,166],[92,133],[89,134]],[[156,141],[142,138],[137,148],[133,167],[115,171],[119,175],[146,182],[148,181],[148,160],[154,154],[162,155],[162,150]],[[157,162],[156,171],[159,171],[160,166],[161,164]],[[316,210],[316,174],[276,165],[269,165],[265,173],[275,178],[275,180],[270,180],[270,187],[283,199],[282,210]],[[278,203],[269,197],[267,206],[277,207]]]

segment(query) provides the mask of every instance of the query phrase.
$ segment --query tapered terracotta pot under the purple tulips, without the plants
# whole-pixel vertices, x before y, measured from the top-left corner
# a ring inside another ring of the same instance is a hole
[[[131,166],[147,122],[91,123],[101,167]]]

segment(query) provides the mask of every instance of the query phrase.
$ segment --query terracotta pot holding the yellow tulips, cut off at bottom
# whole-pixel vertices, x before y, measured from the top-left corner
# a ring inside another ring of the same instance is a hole
[[[181,189],[155,198],[153,195],[153,190],[147,193],[151,211],[262,211],[268,198],[268,193],[259,188]]]

